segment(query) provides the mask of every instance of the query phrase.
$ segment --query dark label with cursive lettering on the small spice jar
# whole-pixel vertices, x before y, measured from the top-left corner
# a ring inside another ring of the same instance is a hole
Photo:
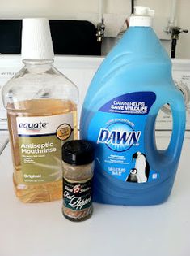
[[[83,210],[91,206],[92,192],[90,180],[72,182],[63,178],[63,204],[71,210]]]

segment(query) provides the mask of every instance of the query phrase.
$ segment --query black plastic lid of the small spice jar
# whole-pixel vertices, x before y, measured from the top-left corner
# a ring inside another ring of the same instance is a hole
[[[95,158],[95,150],[90,141],[67,141],[62,146],[62,160],[73,165],[91,163]]]

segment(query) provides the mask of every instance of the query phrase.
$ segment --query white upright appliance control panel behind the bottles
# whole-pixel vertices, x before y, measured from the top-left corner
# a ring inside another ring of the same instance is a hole
[[[82,102],[87,92],[88,85],[102,61],[103,57],[55,57],[55,67],[78,86],[78,120],[80,118]],[[174,59],[172,62],[173,78],[176,85],[179,86],[179,89],[184,93],[185,101],[187,103],[186,129],[190,130],[190,59]],[[23,67],[23,64],[20,55],[0,55],[0,93],[2,91],[2,86],[5,85],[6,81],[14,76],[15,72],[18,72],[21,67]],[[162,110],[159,112],[156,128],[158,130],[171,130],[172,117],[169,106],[163,106]],[[6,110],[2,104],[2,97],[0,97],[0,152],[7,141]]]

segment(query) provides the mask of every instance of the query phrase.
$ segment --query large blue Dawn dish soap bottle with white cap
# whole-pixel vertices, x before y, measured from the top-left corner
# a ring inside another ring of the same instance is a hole
[[[153,13],[135,7],[128,31],[99,67],[82,106],[81,137],[96,147],[95,202],[162,203],[175,180],[184,140],[184,98],[151,28]],[[173,130],[167,150],[158,150],[155,119],[166,103]]]

